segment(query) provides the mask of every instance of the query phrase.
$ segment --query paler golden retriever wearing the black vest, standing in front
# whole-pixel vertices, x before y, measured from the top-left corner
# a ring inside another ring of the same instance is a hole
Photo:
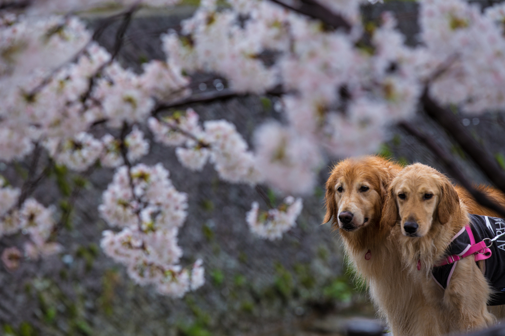
[[[493,189],[483,189],[497,200],[503,200]],[[382,214],[383,223],[398,223],[392,228],[391,242],[401,247],[406,271],[419,278],[414,284],[421,283],[429,306],[439,305],[440,315],[436,319],[447,325],[448,332],[484,328],[496,322],[486,307],[491,288],[473,255],[453,265],[445,290],[431,276],[453,237],[468,225],[468,211],[492,215],[462,188],[453,187],[444,175],[415,163],[391,182]],[[425,323],[432,321],[425,320]]]

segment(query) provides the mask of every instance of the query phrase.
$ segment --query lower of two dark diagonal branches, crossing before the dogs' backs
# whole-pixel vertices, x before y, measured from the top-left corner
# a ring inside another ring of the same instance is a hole
[[[450,153],[442,149],[431,137],[418,131],[414,126],[407,122],[400,122],[398,124],[407,133],[416,137],[426,147],[428,147],[436,156],[437,159],[445,166],[447,173],[454,177],[458,182],[475,198],[475,200],[488,209],[497,212],[501,217],[505,218],[505,209],[501,207],[494,200],[490,199],[484,193],[475,189],[474,186],[468,181],[463,172],[459,169],[455,161],[451,160]]]

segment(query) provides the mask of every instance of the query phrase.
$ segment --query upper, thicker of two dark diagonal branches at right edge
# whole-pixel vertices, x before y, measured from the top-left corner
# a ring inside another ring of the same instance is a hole
[[[438,105],[430,97],[427,87],[423,92],[421,102],[426,114],[456,140],[492,184],[502,192],[505,192],[505,173],[503,173],[498,162],[486,148],[480,145],[461,125],[456,115],[452,111]],[[443,157],[440,156],[440,159],[443,159]]]

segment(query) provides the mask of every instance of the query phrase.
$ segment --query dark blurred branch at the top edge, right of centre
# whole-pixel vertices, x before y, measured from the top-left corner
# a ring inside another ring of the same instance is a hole
[[[296,13],[320,20],[333,29],[343,29],[346,33],[350,31],[351,25],[343,16],[333,13],[315,0],[298,0],[292,6],[285,3],[283,0],[270,1]]]

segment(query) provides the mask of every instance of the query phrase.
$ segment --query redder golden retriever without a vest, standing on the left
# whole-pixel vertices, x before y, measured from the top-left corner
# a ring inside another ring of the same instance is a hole
[[[326,183],[324,222],[333,218],[352,266],[366,280],[374,305],[395,336],[439,335],[448,331],[438,318],[439,305],[425,299],[419,278],[403,269],[399,245],[388,239],[396,217],[389,222],[383,218],[381,223],[389,184],[401,170],[402,166],[379,156],[335,164]],[[463,188],[457,190],[473,213],[496,215],[480,207]]]

